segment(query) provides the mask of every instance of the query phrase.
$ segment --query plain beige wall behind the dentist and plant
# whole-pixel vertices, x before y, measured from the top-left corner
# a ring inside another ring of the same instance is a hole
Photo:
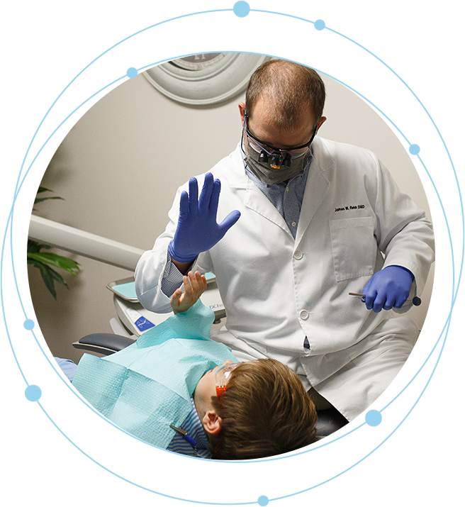
[[[430,215],[430,181],[408,157],[408,145],[357,95],[329,77],[327,121],[319,135],[374,151],[403,190]],[[65,201],[45,201],[35,213],[89,233],[148,250],[167,224],[177,187],[210,169],[240,139],[237,103],[244,95],[211,108],[182,106],[167,99],[138,74],[103,96],[63,136],[48,157],[41,185]],[[28,316],[50,355],[79,361],[72,342],[111,332],[116,316],[106,284],[131,276],[67,252],[81,264],[57,287],[57,301],[37,270],[28,267]],[[430,289],[428,289],[430,290]],[[424,305],[415,320],[432,329]]]

